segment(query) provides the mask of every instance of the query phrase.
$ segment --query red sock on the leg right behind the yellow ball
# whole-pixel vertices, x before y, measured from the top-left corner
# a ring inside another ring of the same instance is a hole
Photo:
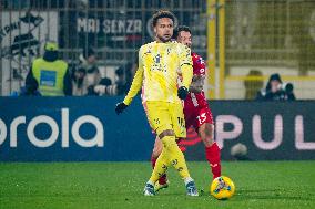
[[[216,143],[205,147],[205,157],[210,164],[213,179],[221,176],[221,150]]]

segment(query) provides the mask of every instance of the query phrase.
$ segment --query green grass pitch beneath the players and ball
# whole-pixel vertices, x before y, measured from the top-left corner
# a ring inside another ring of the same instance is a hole
[[[0,208],[315,208],[315,161],[223,161],[236,186],[224,201],[209,194],[209,165],[187,164],[201,197],[185,196],[174,169],[167,189],[144,197],[149,161],[1,163]]]

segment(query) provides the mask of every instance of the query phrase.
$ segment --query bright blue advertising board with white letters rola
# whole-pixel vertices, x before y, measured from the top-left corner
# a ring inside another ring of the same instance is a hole
[[[145,160],[153,146],[140,98],[120,116],[122,97],[0,98],[0,160]]]

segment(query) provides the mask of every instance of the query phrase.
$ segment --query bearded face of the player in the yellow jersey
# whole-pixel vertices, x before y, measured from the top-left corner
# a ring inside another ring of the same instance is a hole
[[[158,41],[167,42],[173,36],[174,23],[170,18],[160,18],[154,27]]]

